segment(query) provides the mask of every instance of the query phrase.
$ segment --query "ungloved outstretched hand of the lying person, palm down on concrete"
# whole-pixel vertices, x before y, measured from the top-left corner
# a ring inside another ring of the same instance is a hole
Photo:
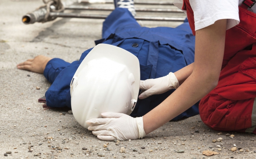
[[[50,57],[39,55],[35,58],[28,59],[27,61],[18,64],[17,68],[42,74],[42,73],[44,73],[44,69],[45,69],[46,64],[51,59],[52,58],[50,58]]]

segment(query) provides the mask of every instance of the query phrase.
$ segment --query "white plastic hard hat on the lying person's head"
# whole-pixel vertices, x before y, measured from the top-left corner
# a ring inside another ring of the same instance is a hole
[[[102,118],[103,112],[130,115],[140,89],[140,64],[130,52],[99,44],[84,58],[70,84],[71,108],[76,121]]]

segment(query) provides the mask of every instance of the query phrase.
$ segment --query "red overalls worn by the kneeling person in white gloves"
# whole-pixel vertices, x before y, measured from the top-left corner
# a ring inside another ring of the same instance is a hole
[[[251,5],[251,0],[244,2]],[[190,28],[195,35],[194,13],[184,0]],[[225,52],[219,82],[199,104],[200,117],[219,131],[256,134],[256,14],[239,7],[240,23],[226,31]]]

